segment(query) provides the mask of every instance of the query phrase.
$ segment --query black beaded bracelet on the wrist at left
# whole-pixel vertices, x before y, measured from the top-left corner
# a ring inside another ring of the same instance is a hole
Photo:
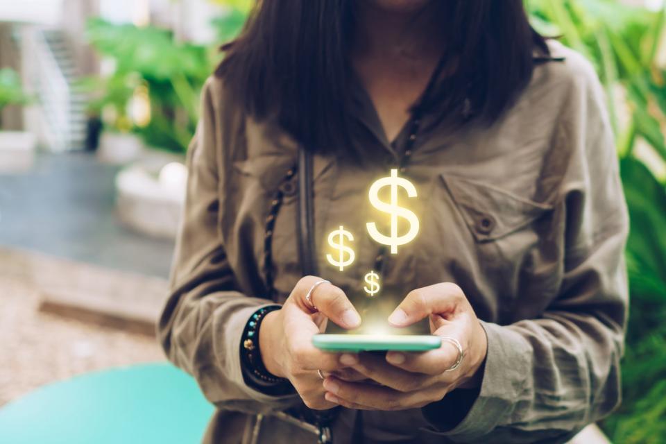
[[[241,335],[241,364],[246,383],[271,395],[282,395],[293,391],[289,379],[275,376],[266,369],[259,350],[259,327],[262,321],[266,314],[281,308],[281,305],[269,305],[255,311]]]

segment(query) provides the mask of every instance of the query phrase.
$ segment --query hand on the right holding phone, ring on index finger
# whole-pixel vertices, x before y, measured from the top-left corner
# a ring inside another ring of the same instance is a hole
[[[388,317],[395,327],[407,327],[429,316],[430,331],[457,339],[463,348],[442,341],[427,352],[386,353],[386,357],[359,353],[351,368],[381,385],[349,382],[329,375],[323,382],[325,398],[350,409],[403,410],[423,407],[444,398],[456,387],[480,384],[486,359],[486,332],[456,284],[443,282],[411,291]],[[388,364],[387,364],[388,363]]]

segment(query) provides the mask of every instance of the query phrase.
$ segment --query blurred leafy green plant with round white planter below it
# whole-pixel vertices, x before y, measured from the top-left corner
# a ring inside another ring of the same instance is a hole
[[[244,21],[234,11],[214,22],[224,39]],[[178,42],[167,29],[102,19],[87,23],[87,37],[114,64],[114,73],[97,86],[103,94],[93,102],[108,128],[101,148],[110,135],[124,131],[160,149],[146,150],[116,176],[119,218],[140,232],[174,237],[185,198],[184,154],[198,121],[201,87],[219,51],[214,44]]]

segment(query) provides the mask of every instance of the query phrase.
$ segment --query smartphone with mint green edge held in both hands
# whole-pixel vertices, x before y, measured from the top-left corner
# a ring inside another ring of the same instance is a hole
[[[315,334],[312,343],[327,352],[395,350],[421,352],[439,348],[442,340],[432,334]]]

